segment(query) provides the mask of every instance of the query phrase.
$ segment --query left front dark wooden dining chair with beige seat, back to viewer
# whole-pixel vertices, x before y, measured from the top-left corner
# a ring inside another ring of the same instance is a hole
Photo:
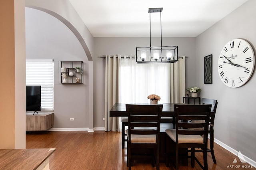
[[[127,166],[131,170],[134,159],[144,156],[153,158],[159,170],[160,118],[163,105],[126,104],[128,114]]]

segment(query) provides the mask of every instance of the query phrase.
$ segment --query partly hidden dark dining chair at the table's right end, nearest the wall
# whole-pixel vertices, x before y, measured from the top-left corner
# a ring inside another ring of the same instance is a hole
[[[214,119],[215,119],[215,114],[216,114],[216,109],[217,109],[217,105],[218,105],[218,102],[217,100],[214,100],[214,99],[206,99],[206,98],[202,98],[201,99],[201,103],[202,105],[204,104],[211,104],[212,105],[212,108],[211,108],[211,114],[210,114],[210,122],[209,122],[209,130],[208,130],[208,133],[210,134],[210,148],[207,149],[207,152],[211,152],[212,154],[212,160],[214,162],[214,164],[216,164],[216,158],[215,158],[215,155],[214,155]]]

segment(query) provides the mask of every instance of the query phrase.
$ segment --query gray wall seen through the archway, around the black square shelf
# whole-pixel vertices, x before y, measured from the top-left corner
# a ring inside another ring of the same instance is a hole
[[[26,59],[54,59],[54,128],[88,128],[88,59],[74,34],[53,16],[26,8]],[[59,60],[84,61],[84,83],[58,83]]]

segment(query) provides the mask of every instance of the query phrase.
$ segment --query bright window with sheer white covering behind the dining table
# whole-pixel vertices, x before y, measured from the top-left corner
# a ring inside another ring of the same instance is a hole
[[[170,64],[137,64],[133,57],[120,60],[119,102],[150,103],[152,93],[161,97],[160,103],[170,103]]]

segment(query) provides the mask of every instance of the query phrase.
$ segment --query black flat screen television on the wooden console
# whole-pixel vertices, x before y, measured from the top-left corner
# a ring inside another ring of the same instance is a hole
[[[26,86],[26,111],[41,111],[41,86],[27,85]],[[33,115],[34,115],[33,114]]]

